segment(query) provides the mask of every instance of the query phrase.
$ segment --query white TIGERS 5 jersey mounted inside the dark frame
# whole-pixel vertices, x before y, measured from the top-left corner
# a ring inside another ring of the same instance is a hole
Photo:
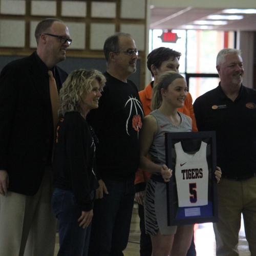
[[[207,143],[201,143],[195,154],[183,151],[181,142],[174,145],[176,151],[175,176],[179,207],[208,204]]]

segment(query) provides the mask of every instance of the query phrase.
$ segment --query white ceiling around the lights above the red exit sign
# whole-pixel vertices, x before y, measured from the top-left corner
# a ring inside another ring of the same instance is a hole
[[[195,20],[206,20],[208,15],[222,14],[223,9],[213,8],[162,8],[151,7],[151,29],[186,29],[187,25],[194,25]],[[230,14],[225,14],[230,15]],[[228,20],[227,25],[218,25],[208,28],[211,30],[224,31],[256,31],[256,14],[236,14],[243,15],[240,20]],[[209,19],[207,19],[209,20]],[[200,29],[197,25],[197,29]],[[193,28],[196,29],[196,28]]]

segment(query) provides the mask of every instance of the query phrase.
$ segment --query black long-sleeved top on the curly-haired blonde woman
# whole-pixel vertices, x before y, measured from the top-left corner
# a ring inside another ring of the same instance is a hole
[[[91,191],[97,188],[95,177],[94,133],[80,113],[67,112],[60,119],[54,146],[54,187],[72,190],[81,210],[93,208]]]

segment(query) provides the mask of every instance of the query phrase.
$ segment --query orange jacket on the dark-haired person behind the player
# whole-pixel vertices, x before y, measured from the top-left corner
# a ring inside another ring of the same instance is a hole
[[[143,106],[144,110],[144,117],[151,112],[151,100],[152,100],[152,86],[151,83],[147,84],[144,90],[139,92],[140,100]],[[193,100],[189,92],[187,92],[187,96],[184,101],[184,106],[183,108],[178,109],[179,112],[189,116],[192,119],[192,131],[197,132],[197,123],[196,123],[196,118],[194,114],[194,109],[193,109]],[[142,169],[138,169],[136,175],[135,175],[135,184],[136,187],[142,185],[139,183],[145,183],[147,180],[150,178],[151,173],[148,173]],[[142,185],[145,187],[145,184]],[[137,189],[138,191],[144,190],[141,186],[141,189]]]

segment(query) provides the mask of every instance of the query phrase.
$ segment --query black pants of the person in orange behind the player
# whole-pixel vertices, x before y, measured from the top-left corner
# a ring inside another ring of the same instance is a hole
[[[145,233],[145,220],[144,220],[144,207],[139,204],[139,217],[140,217],[140,256],[151,256],[152,243],[149,234]],[[196,256],[196,246],[194,242],[194,236],[191,241],[191,245],[187,251],[187,256]]]

